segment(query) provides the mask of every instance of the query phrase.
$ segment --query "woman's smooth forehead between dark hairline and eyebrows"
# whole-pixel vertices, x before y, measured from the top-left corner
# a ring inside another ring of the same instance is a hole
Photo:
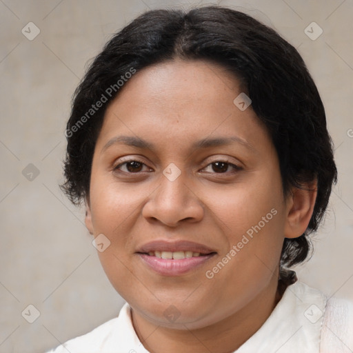
[[[237,137],[250,145],[268,138],[251,108],[234,99],[239,81],[205,61],[168,61],[145,68],[125,83],[110,103],[97,144],[117,134],[148,137],[155,145],[194,144],[212,137]]]

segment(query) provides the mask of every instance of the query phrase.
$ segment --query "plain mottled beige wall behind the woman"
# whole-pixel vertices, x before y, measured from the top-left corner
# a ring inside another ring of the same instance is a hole
[[[83,211],[58,187],[70,98],[87,61],[138,14],[210,3],[216,1],[0,1],[0,352],[43,352],[119,313],[123,300],[101,269]],[[297,272],[301,281],[353,300],[353,2],[221,5],[278,30],[299,48],[318,85],[340,177],[314,256]],[[30,21],[41,31],[33,41],[21,33]],[[312,21],[323,29],[315,41],[304,32]],[[22,174],[29,163],[39,170],[32,181]],[[30,304],[40,312],[32,324],[21,316]]]

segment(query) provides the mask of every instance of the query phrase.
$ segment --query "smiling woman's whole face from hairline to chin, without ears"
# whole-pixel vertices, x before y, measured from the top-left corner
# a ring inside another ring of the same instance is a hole
[[[86,225],[110,241],[99,258],[114,288],[158,325],[216,323],[277,280],[290,206],[239,94],[212,63],[170,61],[134,74],[106,111]]]

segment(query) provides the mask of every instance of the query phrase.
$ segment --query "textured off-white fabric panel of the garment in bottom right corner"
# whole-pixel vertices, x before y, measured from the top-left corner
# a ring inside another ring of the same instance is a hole
[[[353,351],[353,302],[327,299],[321,330],[321,353]]]

